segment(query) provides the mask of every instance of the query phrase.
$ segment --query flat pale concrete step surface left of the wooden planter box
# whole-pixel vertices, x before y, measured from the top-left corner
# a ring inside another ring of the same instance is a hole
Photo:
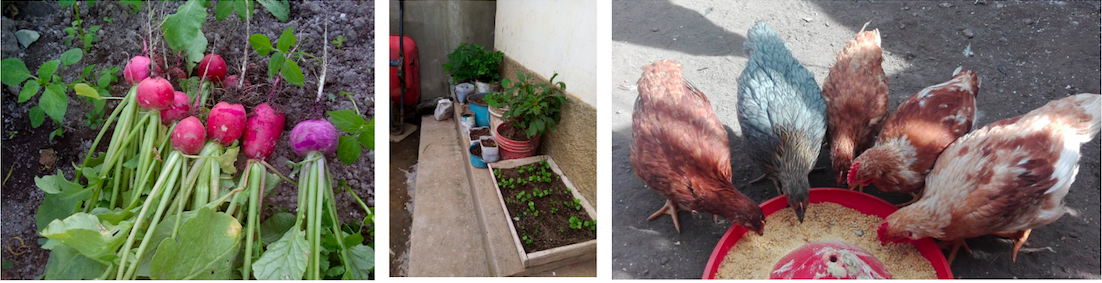
[[[410,276],[493,275],[464,167],[471,163],[454,127],[452,119],[421,118]]]

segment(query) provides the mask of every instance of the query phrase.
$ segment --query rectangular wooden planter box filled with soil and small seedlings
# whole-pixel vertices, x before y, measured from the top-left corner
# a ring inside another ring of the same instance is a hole
[[[526,268],[595,255],[596,211],[551,157],[501,161],[490,172]]]

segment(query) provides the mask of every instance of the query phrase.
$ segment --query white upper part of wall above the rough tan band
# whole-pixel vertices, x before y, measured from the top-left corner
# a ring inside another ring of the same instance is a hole
[[[496,20],[494,48],[596,106],[596,1],[497,1]]]

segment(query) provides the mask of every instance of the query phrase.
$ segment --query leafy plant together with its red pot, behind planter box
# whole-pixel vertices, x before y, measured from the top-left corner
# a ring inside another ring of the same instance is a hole
[[[566,102],[566,97],[562,95],[566,84],[554,83],[558,76],[559,74],[551,76],[551,85],[532,85],[528,83],[530,76],[518,72],[517,83],[508,79],[503,81],[507,86],[504,96],[509,110],[501,117],[505,122],[491,128],[503,159],[521,159],[536,154],[540,135],[549,130],[554,131],[561,119],[562,105]]]

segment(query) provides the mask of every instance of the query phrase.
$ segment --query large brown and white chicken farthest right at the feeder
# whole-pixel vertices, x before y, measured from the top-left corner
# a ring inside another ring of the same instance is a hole
[[[1100,97],[1055,100],[961,137],[938,157],[922,198],[880,225],[880,241],[952,241],[951,261],[964,239],[996,235],[1014,241],[1017,261],[1031,229],[1066,211],[1079,148],[1099,133]]]

